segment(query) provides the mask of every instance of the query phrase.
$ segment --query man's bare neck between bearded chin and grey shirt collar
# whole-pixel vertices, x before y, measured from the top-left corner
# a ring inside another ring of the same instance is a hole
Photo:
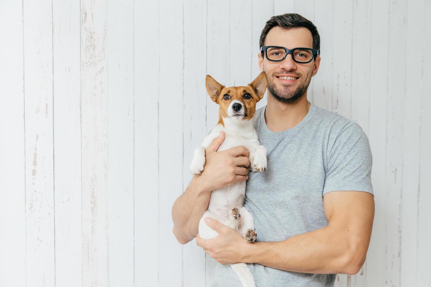
[[[306,116],[309,108],[307,94],[294,104],[278,102],[272,95],[268,95],[268,104],[265,108],[266,126],[272,132],[291,129]]]

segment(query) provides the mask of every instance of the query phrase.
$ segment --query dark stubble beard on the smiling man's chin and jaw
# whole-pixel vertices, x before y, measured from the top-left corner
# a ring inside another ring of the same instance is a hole
[[[309,73],[305,82],[300,83],[300,85],[294,91],[291,91],[288,85],[283,85],[284,89],[282,90],[277,89],[272,77],[269,77],[268,92],[271,93],[274,99],[276,99],[278,102],[290,105],[296,104],[306,93],[308,86],[310,85],[311,74],[312,73]]]

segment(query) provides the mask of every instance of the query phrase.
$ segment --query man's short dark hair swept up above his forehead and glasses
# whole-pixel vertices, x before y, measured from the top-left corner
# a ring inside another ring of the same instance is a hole
[[[272,16],[271,19],[266,21],[265,27],[263,27],[262,33],[260,34],[259,47],[262,47],[263,43],[265,43],[266,34],[268,34],[269,30],[277,26],[284,29],[307,28],[310,30],[313,37],[313,49],[319,50],[320,54],[320,36],[316,26],[311,21],[297,13],[286,13],[283,15]]]

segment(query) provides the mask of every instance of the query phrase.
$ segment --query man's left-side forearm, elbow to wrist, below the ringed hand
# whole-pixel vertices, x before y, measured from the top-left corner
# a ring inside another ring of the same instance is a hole
[[[172,207],[173,232],[178,242],[186,244],[196,237],[199,220],[208,208],[210,191],[194,177]]]

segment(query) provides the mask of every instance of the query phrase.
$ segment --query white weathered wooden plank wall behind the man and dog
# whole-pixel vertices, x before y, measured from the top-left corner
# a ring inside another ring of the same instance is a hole
[[[336,286],[429,286],[429,0],[1,0],[0,286],[209,286],[171,219],[217,121],[205,75],[250,83],[285,12],[322,39],[309,101],[372,148],[367,260]]]

